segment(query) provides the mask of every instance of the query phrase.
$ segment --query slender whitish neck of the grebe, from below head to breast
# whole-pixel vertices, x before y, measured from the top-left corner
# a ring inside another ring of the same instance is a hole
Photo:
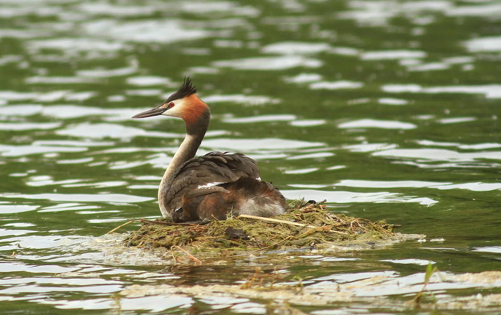
[[[165,187],[165,185],[169,182],[175,170],[184,162],[195,156],[204,135],[205,131],[197,134],[186,135],[183,142],[179,146],[179,149],[176,151],[176,154],[174,154],[172,161],[170,161],[169,166],[165,170],[165,173],[163,174],[162,181],[160,182],[160,187],[158,188],[158,205],[160,206],[160,212],[165,218],[170,217],[170,212],[172,212],[172,210],[174,209],[170,209],[167,205],[170,200],[166,200],[166,191],[163,188],[169,189],[170,187]]]

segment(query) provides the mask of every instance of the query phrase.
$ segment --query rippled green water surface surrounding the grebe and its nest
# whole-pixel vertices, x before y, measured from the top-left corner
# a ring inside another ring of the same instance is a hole
[[[127,285],[232,284],[257,265],[317,280],[405,278],[428,261],[499,269],[500,16],[489,0],[0,0],[0,313],[120,313],[110,295]],[[288,198],[327,199],[426,242],[202,266],[107,249],[117,240],[96,237],[160,216],[158,183],[184,137],[178,119],[130,117],[188,75],[212,112],[199,154],[245,153]],[[147,296],[121,311],[218,303]],[[406,312],[327,308],[303,311]]]

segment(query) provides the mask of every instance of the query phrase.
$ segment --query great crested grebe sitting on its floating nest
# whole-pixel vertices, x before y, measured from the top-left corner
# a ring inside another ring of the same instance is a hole
[[[132,117],[179,117],[186,125],[186,137],[158,188],[163,217],[205,224],[225,220],[228,213],[265,217],[284,213],[286,198],[271,183],[261,181],[255,160],[228,152],[194,157],[210,122],[209,107],[195,93],[187,78],[165,102]]]

